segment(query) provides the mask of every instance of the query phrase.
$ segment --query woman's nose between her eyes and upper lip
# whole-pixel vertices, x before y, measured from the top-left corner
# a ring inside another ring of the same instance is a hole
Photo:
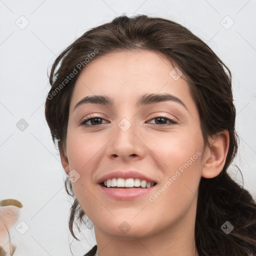
[[[113,129],[113,137],[107,144],[107,155],[110,158],[120,157],[123,160],[141,159],[145,154],[145,144],[138,125],[123,118]]]

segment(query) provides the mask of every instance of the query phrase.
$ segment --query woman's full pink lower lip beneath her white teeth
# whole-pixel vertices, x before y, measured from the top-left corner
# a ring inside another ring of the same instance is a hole
[[[145,195],[149,192],[152,192],[152,189],[154,189],[154,186],[147,187],[147,188],[139,188],[139,187],[132,187],[132,188],[114,188],[114,187],[104,187],[102,185],[99,185],[101,191],[108,195],[109,197],[112,197],[117,200],[132,200],[139,196]]]

